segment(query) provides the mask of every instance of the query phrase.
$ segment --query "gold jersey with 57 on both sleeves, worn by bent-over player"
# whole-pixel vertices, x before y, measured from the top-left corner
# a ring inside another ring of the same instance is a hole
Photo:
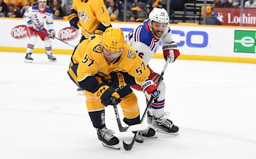
[[[111,72],[127,72],[135,78],[138,84],[148,79],[149,69],[135,50],[124,43],[121,56],[113,62],[107,62],[102,53],[102,37],[93,36],[80,43],[72,56],[74,63],[78,64],[77,81],[81,82],[88,76],[105,76]]]

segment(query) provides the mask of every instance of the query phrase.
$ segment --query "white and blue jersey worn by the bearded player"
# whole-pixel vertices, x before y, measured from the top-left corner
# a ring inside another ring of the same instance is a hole
[[[135,49],[146,64],[149,63],[149,60],[157,52],[160,41],[162,44],[167,41],[173,41],[170,27],[165,30],[161,38],[157,38],[149,30],[148,24],[149,19],[143,21],[138,28],[129,32],[126,41]]]

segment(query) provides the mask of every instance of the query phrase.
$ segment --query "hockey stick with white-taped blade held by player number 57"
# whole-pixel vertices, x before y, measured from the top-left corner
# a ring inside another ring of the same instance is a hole
[[[140,131],[140,130],[146,130],[148,128],[147,124],[135,124],[135,125],[130,125],[129,127],[123,127],[120,117],[119,117],[119,113],[117,110],[117,106],[116,106],[116,101],[115,98],[111,98],[112,103],[113,103],[113,107],[114,107],[114,111],[115,111],[115,115],[116,115],[116,121],[118,124],[118,128],[120,132],[125,132],[125,131]]]

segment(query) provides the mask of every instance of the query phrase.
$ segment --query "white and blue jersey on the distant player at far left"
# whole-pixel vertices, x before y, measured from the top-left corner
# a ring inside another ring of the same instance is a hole
[[[23,15],[23,18],[28,27],[36,26],[43,29],[44,22],[46,22],[47,28],[49,30],[53,29],[52,11],[47,7],[44,12],[41,12],[38,5],[31,6]]]

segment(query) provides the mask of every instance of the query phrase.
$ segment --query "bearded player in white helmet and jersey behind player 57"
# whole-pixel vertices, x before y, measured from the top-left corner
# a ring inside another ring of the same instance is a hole
[[[154,8],[149,13],[149,18],[143,21],[138,28],[129,33],[126,42],[130,44],[145,63],[148,64],[154,53],[157,52],[160,41],[163,44],[165,61],[167,60],[167,57],[170,56],[170,62],[174,62],[180,53],[177,44],[174,43],[172,39],[171,29],[169,28],[169,15],[165,9]],[[156,84],[159,81],[160,75],[151,69],[150,72],[149,79],[153,80]],[[131,87],[141,90],[140,86],[137,85]],[[147,119],[148,124],[157,132],[179,135],[179,127],[174,125],[171,120],[167,119],[170,113],[164,112],[164,82],[161,82],[157,89],[160,91],[160,96],[157,101],[150,105]],[[149,101],[149,98],[150,96],[147,97],[147,102]]]

